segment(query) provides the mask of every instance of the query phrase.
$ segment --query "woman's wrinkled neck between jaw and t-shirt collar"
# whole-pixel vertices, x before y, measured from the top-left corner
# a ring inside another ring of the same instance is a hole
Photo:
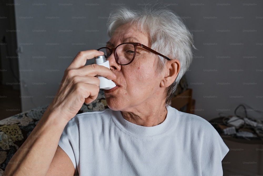
[[[161,105],[161,106],[160,106]],[[167,115],[165,101],[155,107],[141,107],[133,111],[122,111],[125,120],[141,126],[155,126],[162,123]]]

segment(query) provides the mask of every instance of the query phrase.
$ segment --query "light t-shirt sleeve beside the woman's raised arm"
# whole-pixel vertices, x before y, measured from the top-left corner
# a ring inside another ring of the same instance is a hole
[[[58,145],[69,156],[76,173],[79,161],[79,122],[78,118],[72,118],[64,128]]]

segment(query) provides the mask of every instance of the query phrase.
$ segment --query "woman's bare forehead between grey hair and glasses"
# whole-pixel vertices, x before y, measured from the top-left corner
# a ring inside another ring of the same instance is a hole
[[[130,23],[119,26],[108,41],[110,45],[117,46],[125,42],[139,42],[146,46],[150,45],[148,34]]]

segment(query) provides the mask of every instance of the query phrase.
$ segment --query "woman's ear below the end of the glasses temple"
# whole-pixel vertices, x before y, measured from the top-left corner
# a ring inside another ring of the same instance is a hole
[[[161,80],[161,87],[169,87],[176,79],[180,70],[180,62],[177,59],[168,60],[165,63],[164,77]]]

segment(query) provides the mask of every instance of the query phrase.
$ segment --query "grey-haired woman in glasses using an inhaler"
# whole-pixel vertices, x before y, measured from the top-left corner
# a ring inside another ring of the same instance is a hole
[[[193,38],[168,9],[120,8],[110,40],[77,54],[53,102],[8,164],[6,175],[222,175],[228,152],[206,120],[169,106],[192,60]],[[105,55],[110,69],[87,59]],[[100,75],[110,109],[76,116],[95,100]],[[75,116],[75,117],[74,117]],[[74,118],[73,118],[74,117]]]

